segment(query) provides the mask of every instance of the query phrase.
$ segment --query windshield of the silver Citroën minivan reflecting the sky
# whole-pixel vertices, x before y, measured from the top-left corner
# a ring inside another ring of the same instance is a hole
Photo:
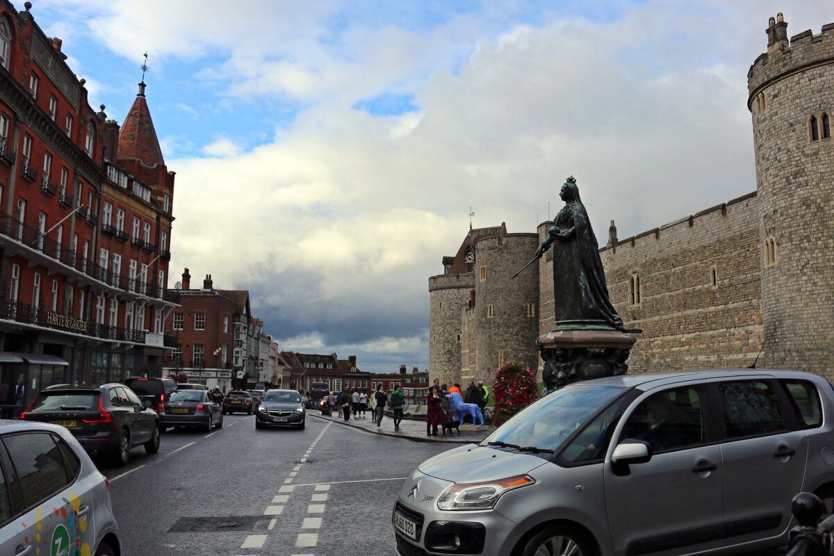
[[[624,391],[617,386],[565,386],[515,414],[482,445],[557,450],[577,428]]]

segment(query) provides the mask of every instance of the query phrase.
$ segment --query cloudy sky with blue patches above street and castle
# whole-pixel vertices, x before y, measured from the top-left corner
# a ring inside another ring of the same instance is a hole
[[[470,207],[533,232],[573,174],[604,244],[754,190],[767,20],[834,22],[819,0],[33,4],[119,122],[148,52],[171,282],[248,288],[282,349],[377,372],[428,368],[428,278]]]

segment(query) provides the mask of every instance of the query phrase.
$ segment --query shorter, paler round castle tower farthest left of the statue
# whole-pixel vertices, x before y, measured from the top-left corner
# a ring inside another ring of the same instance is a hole
[[[429,278],[429,378],[460,376],[461,307],[475,288],[472,274],[440,274]]]

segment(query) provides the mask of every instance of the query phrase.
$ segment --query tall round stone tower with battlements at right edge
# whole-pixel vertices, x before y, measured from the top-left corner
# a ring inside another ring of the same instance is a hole
[[[781,13],[747,74],[761,233],[760,367],[834,378],[834,23],[787,38]]]

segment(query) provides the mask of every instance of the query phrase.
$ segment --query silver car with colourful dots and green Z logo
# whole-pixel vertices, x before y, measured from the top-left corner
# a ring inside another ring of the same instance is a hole
[[[110,484],[67,428],[0,422],[0,479],[0,554],[122,553]]]

